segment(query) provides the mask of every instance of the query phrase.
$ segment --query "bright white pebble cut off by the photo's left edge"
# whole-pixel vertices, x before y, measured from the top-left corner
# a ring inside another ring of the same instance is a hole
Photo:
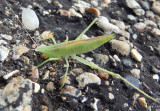
[[[9,54],[9,49],[3,46],[0,46],[0,61],[4,61]]]

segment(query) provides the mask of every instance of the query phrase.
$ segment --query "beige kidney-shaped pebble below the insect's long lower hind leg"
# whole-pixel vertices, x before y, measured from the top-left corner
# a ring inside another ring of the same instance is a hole
[[[97,75],[87,72],[76,77],[76,80],[78,82],[78,87],[81,89],[83,89],[87,84],[101,84],[101,79]]]

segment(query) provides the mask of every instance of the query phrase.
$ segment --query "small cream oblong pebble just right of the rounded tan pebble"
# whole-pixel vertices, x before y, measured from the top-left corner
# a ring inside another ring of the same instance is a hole
[[[142,55],[136,49],[131,50],[131,56],[137,62],[141,62],[141,60],[142,60]]]

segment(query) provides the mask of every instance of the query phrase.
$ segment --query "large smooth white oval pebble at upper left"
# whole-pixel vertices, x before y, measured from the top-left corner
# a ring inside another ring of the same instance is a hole
[[[23,8],[22,23],[26,29],[31,31],[39,27],[39,19],[36,13],[29,8]]]

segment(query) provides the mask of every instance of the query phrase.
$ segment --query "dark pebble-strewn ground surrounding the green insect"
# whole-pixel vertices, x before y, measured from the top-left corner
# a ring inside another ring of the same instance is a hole
[[[52,44],[39,41],[40,35],[54,36],[57,43],[65,41],[66,35],[74,40],[98,17],[83,38],[116,37],[78,56],[120,74],[160,100],[159,0],[6,1],[0,2],[0,111],[160,110],[159,103],[122,80],[72,58],[61,90],[64,58],[34,67],[45,59],[34,50],[36,46]],[[26,13],[25,8],[32,10]]]

